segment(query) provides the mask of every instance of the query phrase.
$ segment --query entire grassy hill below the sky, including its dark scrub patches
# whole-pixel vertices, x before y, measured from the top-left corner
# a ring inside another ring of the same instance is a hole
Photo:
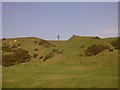
[[[117,88],[117,40],[87,36],[66,41],[3,39],[3,88]]]

